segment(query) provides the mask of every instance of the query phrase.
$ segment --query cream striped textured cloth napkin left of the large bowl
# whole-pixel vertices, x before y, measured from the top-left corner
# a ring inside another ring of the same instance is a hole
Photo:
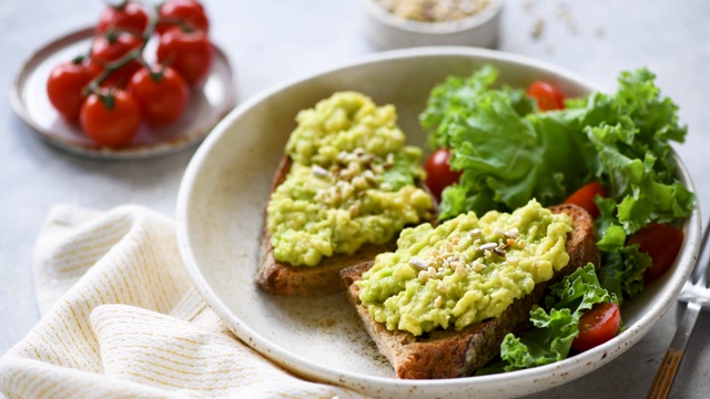
[[[34,253],[37,326],[0,359],[10,398],[355,398],[234,337],[192,286],[173,223],[59,205]]]

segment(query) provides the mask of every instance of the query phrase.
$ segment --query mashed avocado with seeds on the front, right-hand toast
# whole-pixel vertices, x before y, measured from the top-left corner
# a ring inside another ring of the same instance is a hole
[[[569,263],[571,221],[537,201],[511,214],[460,214],[406,228],[356,284],[369,314],[414,335],[499,316]]]

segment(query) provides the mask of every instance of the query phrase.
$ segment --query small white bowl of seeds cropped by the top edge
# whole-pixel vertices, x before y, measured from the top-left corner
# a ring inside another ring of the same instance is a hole
[[[493,48],[504,0],[490,0],[478,13],[458,21],[420,22],[397,17],[377,0],[364,0],[365,29],[379,50],[425,45],[473,45]]]

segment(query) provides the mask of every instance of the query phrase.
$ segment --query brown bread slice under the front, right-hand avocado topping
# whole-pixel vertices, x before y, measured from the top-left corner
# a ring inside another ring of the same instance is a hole
[[[538,284],[530,294],[515,300],[499,317],[470,325],[460,331],[435,330],[418,337],[409,331],[390,331],[369,316],[359,301],[359,287],[353,284],[362,278],[373,262],[341,272],[347,300],[357,309],[367,332],[394,366],[397,377],[435,379],[473,375],[499,355],[500,344],[508,332],[518,335],[530,327],[530,309],[544,298],[549,285],[589,262],[599,265],[600,255],[595,244],[596,228],[591,216],[576,205],[559,205],[550,209],[567,213],[572,219],[572,232],[566,244],[569,264],[556,273],[551,280]]]

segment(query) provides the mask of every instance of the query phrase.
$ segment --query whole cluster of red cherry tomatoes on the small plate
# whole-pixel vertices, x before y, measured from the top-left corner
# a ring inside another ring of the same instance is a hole
[[[100,145],[131,143],[141,124],[180,119],[191,86],[212,63],[210,20],[195,0],[166,0],[155,10],[136,1],[109,6],[89,54],[57,65],[47,82],[54,109]],[[155,35],[155,62],[145,45]]]

